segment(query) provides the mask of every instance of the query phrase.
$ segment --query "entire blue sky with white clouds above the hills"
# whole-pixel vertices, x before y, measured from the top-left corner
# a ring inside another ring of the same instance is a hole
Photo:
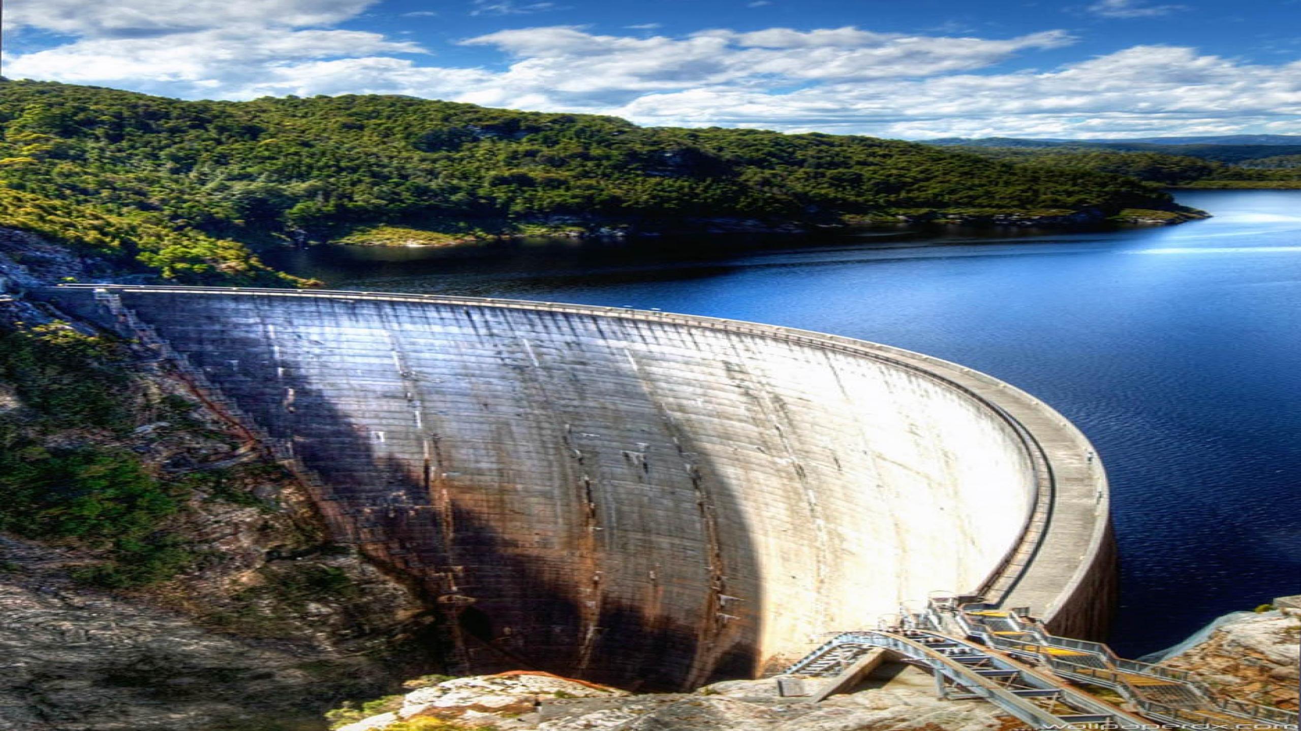
[[[7,0],[3,73],[903,139],[1301,134],[1301,0]]]

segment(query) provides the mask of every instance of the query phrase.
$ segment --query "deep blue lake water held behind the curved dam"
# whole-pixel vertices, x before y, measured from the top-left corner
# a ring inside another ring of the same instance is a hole
[[[334,289],[791,325],[1016,384],[1107,466],[1121,553],[1111,640],[1137,656],[1301,593],[1301,191],[1179,200],[1215,217],[1095,233],[328,246],[273,263]]]

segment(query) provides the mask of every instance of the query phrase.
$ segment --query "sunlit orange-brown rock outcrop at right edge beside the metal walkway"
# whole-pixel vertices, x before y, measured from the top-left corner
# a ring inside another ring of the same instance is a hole
[[[1226,698],[1297,709],[1301,617],[1280,611],[1248,614],[1160,665],[1189,670]]]

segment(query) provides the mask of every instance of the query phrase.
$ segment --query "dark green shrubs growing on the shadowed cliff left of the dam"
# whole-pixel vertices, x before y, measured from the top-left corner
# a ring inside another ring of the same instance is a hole
[[[69,431],[121,433],[135,398],[121,346],[65,324],[0,328],[0,381],[25,406],[0,415],[0,529],[100,549],[75,576],[109,588],[169,579],[190,553],[161,529],[183,489],[127,450],[47,446]]]

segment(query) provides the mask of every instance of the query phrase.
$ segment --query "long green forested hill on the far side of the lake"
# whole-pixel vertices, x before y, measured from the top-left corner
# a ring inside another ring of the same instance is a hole
[[[380,224],[481,235],[1176,208],[1123,176],[898,140],[405,96],[181,101],[3,81],[0,126],[0,225],[182,281],[269,281],[248,247]]]

